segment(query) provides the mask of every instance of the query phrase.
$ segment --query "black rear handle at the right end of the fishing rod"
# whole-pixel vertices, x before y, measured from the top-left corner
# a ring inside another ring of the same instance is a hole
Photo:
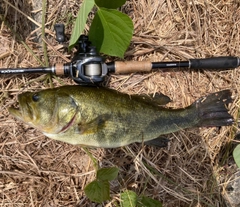
[[[240,66],[240,58],[232,56],[190,59],[189,62],[189,67],[193,69],[230,69]]]

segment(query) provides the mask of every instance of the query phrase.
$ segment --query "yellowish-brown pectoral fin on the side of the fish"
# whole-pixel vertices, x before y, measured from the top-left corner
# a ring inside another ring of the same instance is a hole
[[[107,121],[110,119],[110,114],[103,114],[88,123],[79,123],[78,130],[80,134],[97,133],[106,127]]]

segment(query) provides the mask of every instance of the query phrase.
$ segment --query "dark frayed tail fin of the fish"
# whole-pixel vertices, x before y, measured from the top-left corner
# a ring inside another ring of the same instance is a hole
[[[226,104],[233,101],[231,95],[230,90],[223,90],[197,100],[194,103],[200,119],[197,126],[211,127],[232,125],[234,119],[226,108]]]

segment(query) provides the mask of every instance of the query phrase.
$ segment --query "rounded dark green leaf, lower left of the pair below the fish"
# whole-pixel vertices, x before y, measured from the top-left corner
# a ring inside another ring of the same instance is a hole
[[[94,180],[84,188],[84,192],[91,201],[96,203],[102,203],[110,199],[108,181]]]

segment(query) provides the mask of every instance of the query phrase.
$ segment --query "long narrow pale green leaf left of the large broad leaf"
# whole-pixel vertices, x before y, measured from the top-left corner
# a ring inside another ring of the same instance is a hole
[[[72,31],[72,35],[70,38],[70,43],[69,43],[69,49],[72,49],[73,46],[76,44],[78,41],[78,38],[82,34],[85,24],[88,18],[89,12],[92,10],[94,6],[94,0],[84,0],[81,8],[78,12],[77,19],[74,24],[74,28]]]

